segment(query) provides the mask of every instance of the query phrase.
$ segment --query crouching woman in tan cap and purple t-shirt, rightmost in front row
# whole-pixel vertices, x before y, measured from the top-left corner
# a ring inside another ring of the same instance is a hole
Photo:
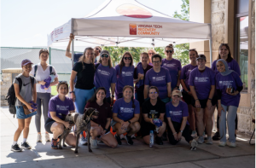
[[[172,101],[166,104],[166,118],[169,127],[168,139],[172,145],[176,145],[182,138],[190,144],[190,150],[195,150],[197,142],[190,135],[188,116],[188,105],[181,101],[181,92],[179,90],[172,91]]]

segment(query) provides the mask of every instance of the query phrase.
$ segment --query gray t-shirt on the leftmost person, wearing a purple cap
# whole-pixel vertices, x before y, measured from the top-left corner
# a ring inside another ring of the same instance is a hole
[[[20,96],[26,101],[32,101],[32,89],[31,89],[31,79],[30,78],[34,78],[32,76],[30,77],[25,77],[22,75],[22,73],[20,73],[16,78],[21,78],[22,80],[22,86],[21,86],[21,90],[20,90]],[[19,84],[19,81],[15,78],[14,80],[14,84]],[[36,84],[37,81],[34,78],[34,84]],[[15,102],[15,106],[22,106],[23,103],[20,102],[19,99],[16,99]]]

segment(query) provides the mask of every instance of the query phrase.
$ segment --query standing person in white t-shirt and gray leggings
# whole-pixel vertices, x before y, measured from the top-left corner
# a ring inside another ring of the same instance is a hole
[[[43,115],[44,115],[44,122],[46,119],[48,119],[48,108],[49,108],[49,99],[50,99],[50,93],[51,93],[51,86],[58,84],[58,74],[55,71],[55,68],[52,67],[47,63],[47,60],[49,58],[49,51],[48,49],[40,49],[39,51],[39,59],[40,62],[37,65],[34,65],[32,67],[32,71],[30,74],[35,77],[38,81],[37,84],[37,104],[38,104],[38,113],[35,118],[36,128],[38,131],[38,139],[37,142],[42,142],[42,135],[41,135],[41,115],[42,115],[42,108],[43,106]],[[49,80],[49,77],[51,77],[49,83],[46,84],[45,80]],[[44,87],[47,86],[47,87]],[[49,142],[49,134],[45,130],[45,142]]]

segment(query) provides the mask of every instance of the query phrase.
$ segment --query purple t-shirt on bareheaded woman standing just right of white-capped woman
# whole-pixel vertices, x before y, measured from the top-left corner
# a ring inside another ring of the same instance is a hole
[[[114,67],[117,76],[117,83],[115,85],[115,99],[119,99],[123,96],[123,88],[125,85],[130,85],[133,87],[133,72],[134,66],[122,67],[122,72],[120,72],[120,67],[117,65]]]

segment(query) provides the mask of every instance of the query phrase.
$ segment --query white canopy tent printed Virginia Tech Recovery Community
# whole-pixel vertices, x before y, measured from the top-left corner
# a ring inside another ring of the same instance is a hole
[[[211,24],[179,20],[136,0],[106,0],[90,14],[71,19],[48,35],[48,46],[58,46],[75,35],[81,46],[162,47],[169,43],[209,40]]]

